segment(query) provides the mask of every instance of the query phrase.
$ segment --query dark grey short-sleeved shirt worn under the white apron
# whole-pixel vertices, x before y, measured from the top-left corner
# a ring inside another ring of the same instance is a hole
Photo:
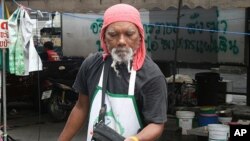
[[[108,57],[106,61],[112,61]],[[81,65],[73,88],[82,94],[91,95],[98,85],[103,58],[101,53],[87,57]],[[111,93],[127,94],[130,73],[125,65],[118,65],[120,77],[110,68],[107,90]],[[148,123],[164,123],[167,120],[167,86],[159,67],[146,56],[144,64],[136,73],[135,99],[144,125]]]

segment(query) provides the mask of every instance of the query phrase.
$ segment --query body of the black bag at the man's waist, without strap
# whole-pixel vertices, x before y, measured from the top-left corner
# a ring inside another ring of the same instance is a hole
[[[105,125],[104,122],[98,122],[94,126],[92,141],[124,141],[125,138]]]

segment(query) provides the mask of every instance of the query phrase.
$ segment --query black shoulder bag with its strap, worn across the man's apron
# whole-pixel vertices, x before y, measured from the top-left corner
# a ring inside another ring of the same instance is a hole
[[[102,86],[102,107],[99,112],[98,122],[94,125],[93,136],[91,141],[124,141],[125,138],[117,133],[115,130],[105,125],[105,113],[106,104],[105,102],[105,92],[108,80],[108,70],[110,64],[104,63],[104,73],[103,73],[103,86]]]

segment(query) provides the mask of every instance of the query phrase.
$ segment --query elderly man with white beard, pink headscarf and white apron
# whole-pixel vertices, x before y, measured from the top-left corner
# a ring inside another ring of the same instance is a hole
[[[144,30],[138,10],[117,4],[104,13],[101,30],[103,53],[83,62],[73,85],[79,99],[59,137],[69,141],[89,115],[87,141],[98,121],[102,99],[103,68],[107,78],[105,122],[125,141],[154,141],[167,120],[167,88],[158,66],[146,55]]]

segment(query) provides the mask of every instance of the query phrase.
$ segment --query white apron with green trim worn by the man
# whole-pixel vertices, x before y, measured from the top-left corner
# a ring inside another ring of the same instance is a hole
[[[101,108],[103,70],[98,87],[91,100],[87,141],[91,141],[93,126],[98,121],[99,111]],[[112,94],[109,92],[106,92],[105,94],[105,103],[107,105],[105,123],[124,137],[137,134],[138,130],[142,127],[134,98],[135,78],[136,71],[132,69],[129,80],[128,95]]]

